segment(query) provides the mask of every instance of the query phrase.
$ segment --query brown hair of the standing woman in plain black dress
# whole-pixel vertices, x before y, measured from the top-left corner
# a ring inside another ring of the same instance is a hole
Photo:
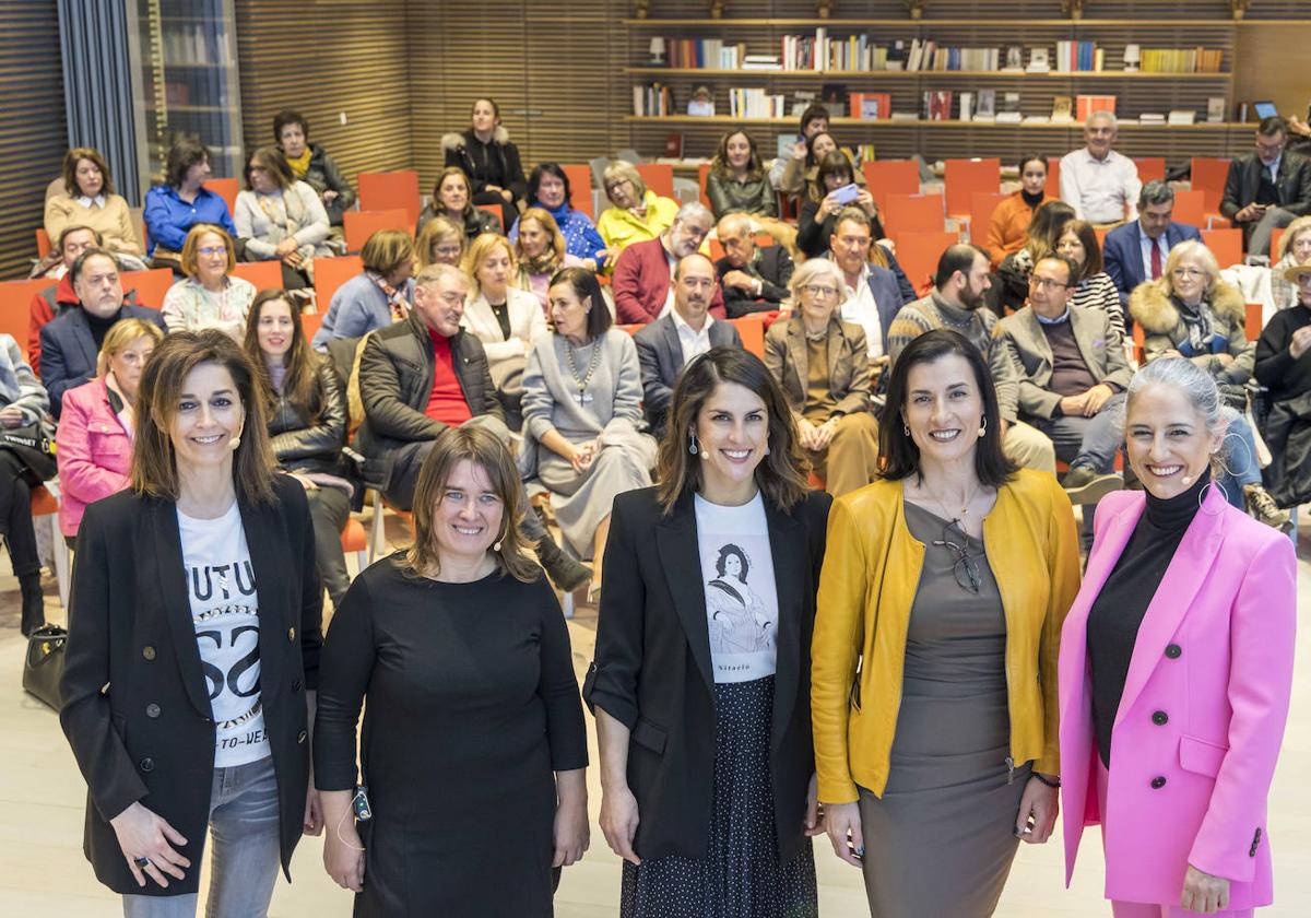
[[[418,480],[414,483],[414,542],[405,552],[406,573],[431,577],[440,572],[435,535],[437,505],[442,501],[451,472],[465,459],[486,473],[493,493],[505,508],[497,536],[501,549],[492,551],[497,569],[531,584],[541,576],[541,568],[528,557],[528,543],[519,531],[527,506],[519,469],[505,443],[476,425],[447,428],[438,434],[433,450],[418,469]]]

